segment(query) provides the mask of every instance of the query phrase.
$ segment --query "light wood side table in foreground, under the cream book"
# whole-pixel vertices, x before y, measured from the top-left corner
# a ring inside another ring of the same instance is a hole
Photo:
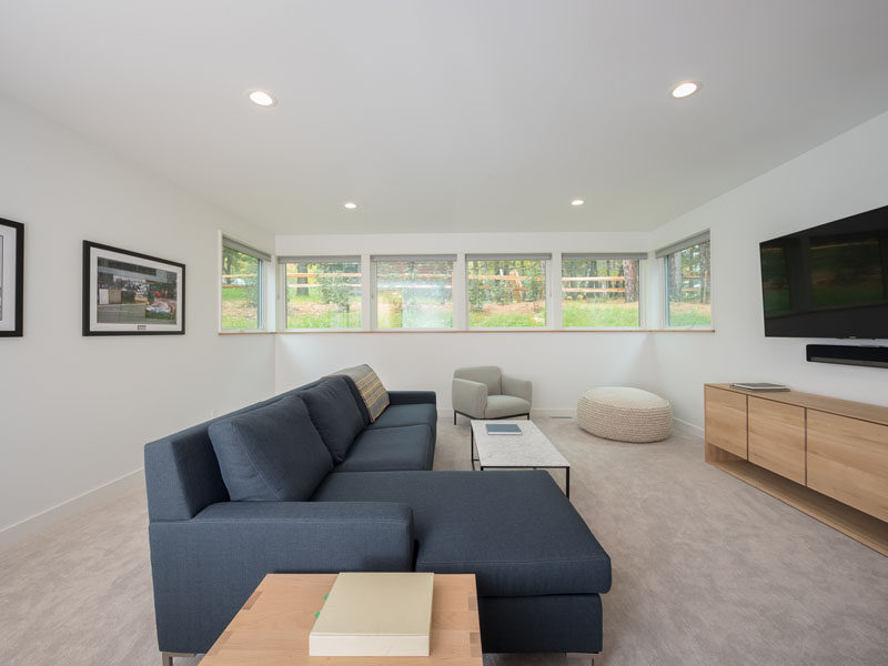
[[[309,633],[336,574],[269,574],[201,666],[482,666],[474,574],[435,574],[427,657],[310,657]]]

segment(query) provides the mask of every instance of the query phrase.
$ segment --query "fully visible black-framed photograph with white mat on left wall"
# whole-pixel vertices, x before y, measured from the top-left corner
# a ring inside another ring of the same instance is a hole
[[[83,241],[83,335],[184,332],[184,264]]]

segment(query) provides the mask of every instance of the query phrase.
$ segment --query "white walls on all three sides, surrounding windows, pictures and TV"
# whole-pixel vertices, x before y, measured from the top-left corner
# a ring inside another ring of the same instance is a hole
[[[637,252],[709,228],[715,334],[219,336],[219,230],[268,250],[270,234],[2,97],[0,145],[0,216],[24,222],[27,236],[26,335],[0,340],[0,541],[3,528],[139,470],[147,441],[357,363],[391,389],[438,392],[444,411],[453,369],[483,363],[531,379],[535,407],[554,413],[588,386],[627,384],[660,392],[699,425],[703,383],[736,380],[888,404],[888,371],[810,364],[808,341],[765,339],[757,258],[764,239],[888,203],[888,114],[653,234],[276,239],[279,254]],[[188,333],[81,336],[84,239],[185,263]],[[648,268],[646,325],[656,327]]]

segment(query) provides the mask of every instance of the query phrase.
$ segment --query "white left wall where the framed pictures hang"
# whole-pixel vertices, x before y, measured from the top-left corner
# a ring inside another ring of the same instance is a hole
[[[0,218],[26,225],[24,337],[0,339],[0,541],[139,470],[145,442],[273,392],[272,336],[216,335],[219,230],[270,234],[6,97]],[[83,337],[83,240],[186,264],[185,335]]]

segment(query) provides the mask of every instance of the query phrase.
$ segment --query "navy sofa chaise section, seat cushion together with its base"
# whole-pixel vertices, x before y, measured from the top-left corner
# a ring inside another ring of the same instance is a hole
[[[610,558],[544,471],[330,474],[315,502],[413,508],[415,569],[474,573],[484,652],[602,649]]]

